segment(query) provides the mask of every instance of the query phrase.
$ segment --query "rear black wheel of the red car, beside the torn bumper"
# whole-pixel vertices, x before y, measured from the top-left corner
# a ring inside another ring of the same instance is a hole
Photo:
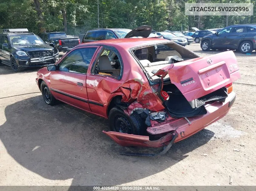
[[[128,116],[119,107],[113,107],[108,115],[109,127],[111,131],[143,135],[146,130],[146,125],[138,114]]]

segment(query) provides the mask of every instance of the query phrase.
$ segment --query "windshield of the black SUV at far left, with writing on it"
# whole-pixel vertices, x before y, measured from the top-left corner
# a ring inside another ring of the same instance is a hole
[[[43,41],[36,35],[15,35],[10,36],[12,45],[19,44],[43,44]]]

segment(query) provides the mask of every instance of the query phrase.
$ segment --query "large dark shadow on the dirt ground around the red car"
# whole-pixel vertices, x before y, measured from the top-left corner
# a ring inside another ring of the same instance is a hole
[[[123,156],[123,148],[101,132],[108,130],[107,120],[64,103],[51,107],[36,96],[7,106],[5,117],[0,138],[8,154],[47,179],[73,178],[72,185],[116,185],[148,177],[214,135],[204,129],[158,157]]]

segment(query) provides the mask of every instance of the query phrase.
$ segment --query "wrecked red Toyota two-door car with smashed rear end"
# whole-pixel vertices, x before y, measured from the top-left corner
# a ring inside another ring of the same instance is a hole
[[[232,51],[199,57],[169,40],[130,38],[78,45],[36,82],[47,104],[108,118],[104,133],[119,145],[170,148],[228,113],[238,78]]]

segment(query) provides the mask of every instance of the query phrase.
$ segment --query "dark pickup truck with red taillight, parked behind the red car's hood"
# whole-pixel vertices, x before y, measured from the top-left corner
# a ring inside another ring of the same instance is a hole
[[[59,52],[67,52],[68,50],[74,48],[76,45],[80,44],[79,37],[69,37],[64,32],[42,33],[39,36],[46,44],[52,47],[55,47],[55,45],[58,43]]]

